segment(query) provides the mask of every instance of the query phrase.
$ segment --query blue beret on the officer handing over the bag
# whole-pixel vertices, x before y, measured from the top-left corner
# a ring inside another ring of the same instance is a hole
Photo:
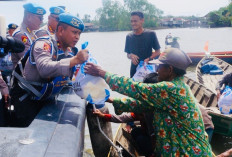
[[[73,16],[69,13],[62,13],[59,15],[59,21],[66,23],[74,28],[77,28],[79,30],[81,30],[82,32],[84,31],[84,23],[77,18],[76,16]]]

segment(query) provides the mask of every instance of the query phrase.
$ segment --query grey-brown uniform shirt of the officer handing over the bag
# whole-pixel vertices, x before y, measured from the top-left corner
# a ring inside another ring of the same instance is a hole
[[[57,45],[55,42],[54,44]],[[71,76],[70,58],[60,61],[52,60],[51,43],[48,40],[39,40],[35,43],[32,54],[36,65],[32,65],[27,60],[24,68],[24,77],[28,81],[48,82],[57,76]],[[65,52],[66,55],[68,52]]]

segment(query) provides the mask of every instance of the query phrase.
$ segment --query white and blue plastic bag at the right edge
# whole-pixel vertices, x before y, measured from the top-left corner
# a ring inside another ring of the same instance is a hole
[[[218,107],[223,114],[232,114],[232,88],[226,86],[218,100]]]

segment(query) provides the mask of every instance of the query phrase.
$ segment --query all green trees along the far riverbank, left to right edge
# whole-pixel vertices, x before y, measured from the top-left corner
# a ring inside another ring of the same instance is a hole
[[[155,28],[159,26],[163,11],[147,0],[123,0],[121,4],[117,0],[102,0],[102,7],[96,10],[96,16],[91,20],[91,16],[85,14],[84,23],[94,23],[99,26],[99,31],[124,31],[130,30],[130,13],[132,11],[142,11],[144,13],[144,27]],[[79,14],[77,14],[79,17]],[[185,17],[191,20],[195,16]],[[232,26],[232,3],[227,7],[222,7],[217,11],[209,12],[207,22],[210,27],[230,27]]]

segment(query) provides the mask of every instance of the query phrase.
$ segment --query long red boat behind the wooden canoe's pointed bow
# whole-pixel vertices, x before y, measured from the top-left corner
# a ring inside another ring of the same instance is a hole
[[[191,58],[193,64],[199,63],[205,57],[205,52],[187,52],[186,54]],[[211,52],[210,54],[232,64],[232,51]]]

